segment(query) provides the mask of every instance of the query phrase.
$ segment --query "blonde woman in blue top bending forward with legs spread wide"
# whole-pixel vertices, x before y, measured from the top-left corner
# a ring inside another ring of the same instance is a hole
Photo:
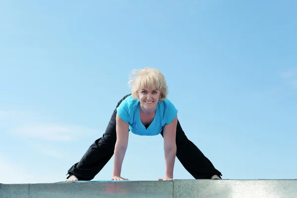
[[[221,173],[186,137],[177,119],[177,109],[167,99],[167,85],[157,69],[134,70],[129,85],[131,94],[121,99],[105,133],[96,140],[82,159],[69,170],[66,181],[92,180],[114,154],[111,180],[121,176],[129,131],[142,136],[161,134],[164,138],[165,175],[172,180],[175,156],[195,179],[221,179]]]

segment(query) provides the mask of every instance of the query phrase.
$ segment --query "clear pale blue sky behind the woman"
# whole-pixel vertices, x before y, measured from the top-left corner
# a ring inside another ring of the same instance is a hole
[[[134,68],[159,69],[188,138],[224,179],[294,179],[297,1],[1,0],[0,183],[65,180]],[[122,176],[164,176],[131,134]],[[109,180],[113,158],[95,180]],[[176,159],[175,179],[193,179]]]

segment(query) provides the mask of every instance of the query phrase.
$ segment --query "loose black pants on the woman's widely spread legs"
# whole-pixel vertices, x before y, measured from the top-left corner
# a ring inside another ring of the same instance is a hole
[[[116,107],[130,95],[122,98]],[[110,160],[116,143],[115,118],[116,109],[113,111],[103,136],[96,140],[82,159],[68,170],[69,176],[67,178],[75,175],[78,180],[92,180]],[[163,137],[163,131],[161,135]],[[177,158],[195,179],[209,179],[212,175],[222,176],[221,172],[215,169],[209,159],[187,138],[179,121],[176,129],[176,146]]]

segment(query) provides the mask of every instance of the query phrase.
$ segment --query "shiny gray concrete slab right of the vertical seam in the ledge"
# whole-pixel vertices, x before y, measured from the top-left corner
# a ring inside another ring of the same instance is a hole
[[[175,180],[174,198],[297,198],[297,180]]]

